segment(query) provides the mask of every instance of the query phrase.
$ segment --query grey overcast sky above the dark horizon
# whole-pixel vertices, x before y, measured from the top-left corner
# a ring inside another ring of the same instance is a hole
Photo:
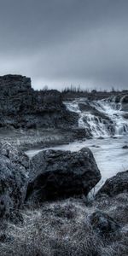
[[[128,0],[0,0],[0,73],[128,89]]]

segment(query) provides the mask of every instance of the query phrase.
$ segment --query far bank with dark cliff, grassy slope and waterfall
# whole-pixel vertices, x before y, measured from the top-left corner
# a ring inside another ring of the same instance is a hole
[[[31,79],[0,77],[0,139],[20,148],[49,147],[128,131],[127,91],[32,89]],[[82,98],[81,98],[82,97]]]

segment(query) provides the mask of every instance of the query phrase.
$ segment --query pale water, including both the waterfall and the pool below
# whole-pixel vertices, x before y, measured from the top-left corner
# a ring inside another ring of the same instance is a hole
[[[116,102],[114,97],[95,102],[87,99],[64,102],[68,110],[79,113],[79,127],[86,129],[91,138],[59,145],[54,149],[78,151],[80,148],[90,148],[102,173],[100,184],[117,172],[128,170],[128,119],[125,118],[128,111],[121,109],[121,101]],[[82,106],[82,110],[79,106]],[[32,158],[42,150],[46,148],[28,150],[26,154]]]

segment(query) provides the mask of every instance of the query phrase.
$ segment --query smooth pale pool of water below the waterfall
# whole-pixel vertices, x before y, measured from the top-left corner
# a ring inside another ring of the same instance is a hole
[[[46,149],[70,150],[73,152],[84,147],[90,148],[102,174],[102,180],[96,186],[99,189],[107,178],[114,176],[117,172],[128,170],[128,149],[124,149],[124,145],[128,146],[128,136],[106,137],[104,139],[92,138],[83,142],[69,143],[68,145],[28,150],[26,154],[32,158],[35,154]]]

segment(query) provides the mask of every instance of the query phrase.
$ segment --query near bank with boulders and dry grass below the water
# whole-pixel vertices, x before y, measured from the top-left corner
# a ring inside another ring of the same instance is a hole
[[[101,178],[88,148],[46,150],[29,160],[0,145],[1,255],[127,255],[128,172]]]

